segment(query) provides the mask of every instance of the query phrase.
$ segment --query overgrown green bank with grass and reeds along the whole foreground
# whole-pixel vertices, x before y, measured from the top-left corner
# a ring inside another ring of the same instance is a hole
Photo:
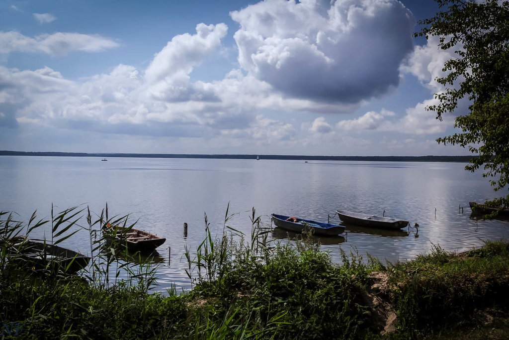
[[[506,338],[505,291],[509,244],[455,254],[434,246],[408,263],[383,265],[353,250],[342,265],[306,241],[272,244],[252,213],[251,233],[224,228],[188,250],[193,289],[178,295],[149,294],[150,267],[132,267],[129,280],[115,280],[114,248],[96,227],[119,223],[102,213],[93,221],[93,265],[79,276],[23,268],[12,260],[8,240],[38,223],[51,223],[52,237],[69,236],[78,210],[52,214],[29,225],[0,215],[0,324],[17,338]],[[67,219],[67,217],[74,216]],[[60,221],[60,222],[59,222]],[[56,224],[56,228],[55,228]],[[42,225],[42,224],[41,224]],[[40,227],[40,226],[37,226]],[[99,228],[100,229],[100,228]],[[53,238],[53,243],[58,242]]]

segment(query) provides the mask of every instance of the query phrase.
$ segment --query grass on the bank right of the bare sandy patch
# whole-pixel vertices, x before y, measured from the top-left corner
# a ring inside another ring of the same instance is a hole
[[[389,270],[393,304],[401,329],[417,335],[438,334],[448,327],[480,327],[486,310],[509,305],[509,252],[505,241],[486,242],[462,254],[435,246],[429,255]]]

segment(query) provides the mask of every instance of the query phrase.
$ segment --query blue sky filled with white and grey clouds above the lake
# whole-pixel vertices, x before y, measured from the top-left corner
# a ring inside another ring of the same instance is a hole
[[[433,0],[0,0],[0,150],[465,155]]]

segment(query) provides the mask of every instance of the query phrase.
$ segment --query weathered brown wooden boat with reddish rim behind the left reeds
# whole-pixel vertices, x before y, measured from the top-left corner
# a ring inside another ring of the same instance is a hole
[[[166,241],[156,234],[134,228],[106,225],[103,230],[108,236],[124,244],[129,251],[153,251]]]

